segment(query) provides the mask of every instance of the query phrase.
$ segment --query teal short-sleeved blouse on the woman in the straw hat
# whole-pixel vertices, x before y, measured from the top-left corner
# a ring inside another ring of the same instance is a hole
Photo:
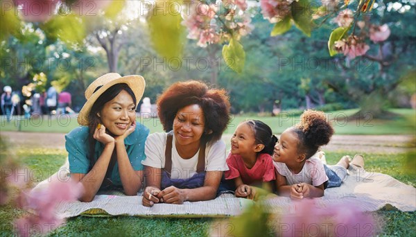
[[[81,126],[65,135],[65,148],[67,148],[68,152],[69,171],[71,173],[86,174],[89,172],[89,159],[87,157],[89,152],[88,134],[89,128]],[[134,170],[144,169],[141,161],[146,159],[146,155],[144,155],[144,144],[148,134],[148,128],[141,123],[137,123],[135,132],[132,132],[132,134],[128,135],[128,137],[124,139],[125,150],[127,151],[128,159],[130,159],[130,164],[132,164]],[[103,144],[96,141],[96,159],[101,156],[103,149]],[[114,185],[122,186],[119,164],[117,162],[112,170],[111,180]]]

